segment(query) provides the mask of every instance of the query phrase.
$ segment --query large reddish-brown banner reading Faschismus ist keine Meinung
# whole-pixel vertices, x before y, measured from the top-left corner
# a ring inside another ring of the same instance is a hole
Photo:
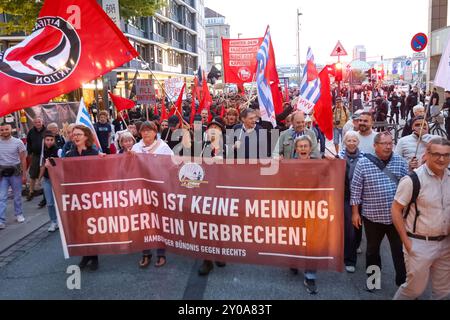
[[[345,162],[285,161],[271,176],[261,168],[152,155],[58,159],[50,176],[65,256],[166,248],[342,271]]]

